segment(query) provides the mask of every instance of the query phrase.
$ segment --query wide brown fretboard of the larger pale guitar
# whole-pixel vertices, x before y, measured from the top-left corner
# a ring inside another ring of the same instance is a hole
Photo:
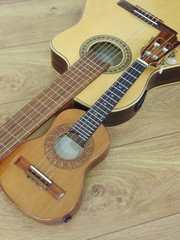
[[[0,128],[0,160],[88,86],[109,64],[89,52]]]

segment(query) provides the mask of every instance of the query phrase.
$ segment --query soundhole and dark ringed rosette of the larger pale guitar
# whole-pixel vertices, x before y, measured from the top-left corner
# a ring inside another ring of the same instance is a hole
[[[96,56],[110,67],[105,73],[117,73],[127,68],[132,55],[128,45],[121,39],[109,35],[98,35],[87,39],[80,48],[81,57],[93,50]]]

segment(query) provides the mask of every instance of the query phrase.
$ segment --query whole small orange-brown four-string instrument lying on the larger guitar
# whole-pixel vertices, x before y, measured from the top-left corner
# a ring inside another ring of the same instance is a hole
[[[45,135],[21,144],[1,165],[6,164],[1,186],[7,196],[39,221],[68,221],[79,205],[85,173],[108,152],[102,122],[147,66],[156,66],[179,44],[175,33],[159,33],[87,112],[66,110]]]

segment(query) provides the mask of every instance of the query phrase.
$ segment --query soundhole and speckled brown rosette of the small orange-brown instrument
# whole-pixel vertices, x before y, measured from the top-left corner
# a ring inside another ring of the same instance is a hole
[[[44,151],[47,160],[62,169],[74,169],[84,165],[91,157],[94,141],[91,137],[83,147],[68,135],[71,125],[62,124],[54,128],[45,141]]]

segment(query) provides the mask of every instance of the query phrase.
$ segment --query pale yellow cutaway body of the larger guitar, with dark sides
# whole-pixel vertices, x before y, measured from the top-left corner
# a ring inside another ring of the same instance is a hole
[[[171,2],[129,0],[128,2],[162,19],[164,24],[175,31],[180,30],[177,0]],[[80,55],[99,43],[102,47],[103,42],[109,42],[119,49],[121,59],[116,59],[109,72],[100,75],[75,97],[76,107],[90,108],[124,69],[139,56],[139,49],[147,43],[147,39],[151,39],[159,32],[117,3],[118,1],[113,0],[88,0],[79,23],[55,36],[51,42],[52,66],[58,74],[66,71]],[[173,62],[173,65],[169,65],[169,61],[167,63],[165,60],[163,74],[159,74],[160,67],[147,69],[115,106],[105,122],[106,125],[119,124],[134,116],[144,100],[146,90],[180,81],[180,52],[177,51],[169,59],[171,64],[175,59],[176,64],[174,65]]]

